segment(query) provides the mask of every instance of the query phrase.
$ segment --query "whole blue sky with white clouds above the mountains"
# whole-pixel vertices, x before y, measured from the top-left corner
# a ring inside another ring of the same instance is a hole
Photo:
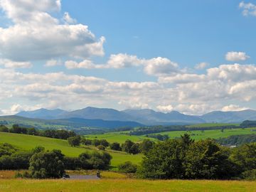
[[[256,0],[0,0],[0,114],[256,109]]]

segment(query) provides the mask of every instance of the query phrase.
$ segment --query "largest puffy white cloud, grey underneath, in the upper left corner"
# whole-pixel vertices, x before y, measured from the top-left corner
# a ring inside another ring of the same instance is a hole
[[[68,14],[65,24],[50,15],[60,6],[59,0],[1,0],[0,8],[13,21],[8,28],[0,28],[1,58],[27,61],[104,55],[104,37],[97,40],[88,26],[70,24]]]

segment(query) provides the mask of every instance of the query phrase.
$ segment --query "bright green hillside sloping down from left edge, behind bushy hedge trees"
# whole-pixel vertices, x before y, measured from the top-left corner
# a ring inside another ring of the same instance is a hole
[[[71,147],[68,142],[62,139],[52,139],[47,137],[37,137],[26,134],[11,134],[0,132],[0,142],[18,146],[21,149],[30,150],[35,146],[44,146],[46,149],[60,149],[66,156],[78,156],[85,151],[92,151],[94,147]],[[124,161],[132,161],[139,164],[142,161],[142,154],[129,155],[122,151],[108,151],[112,155],[112,166],[117,166]]]

